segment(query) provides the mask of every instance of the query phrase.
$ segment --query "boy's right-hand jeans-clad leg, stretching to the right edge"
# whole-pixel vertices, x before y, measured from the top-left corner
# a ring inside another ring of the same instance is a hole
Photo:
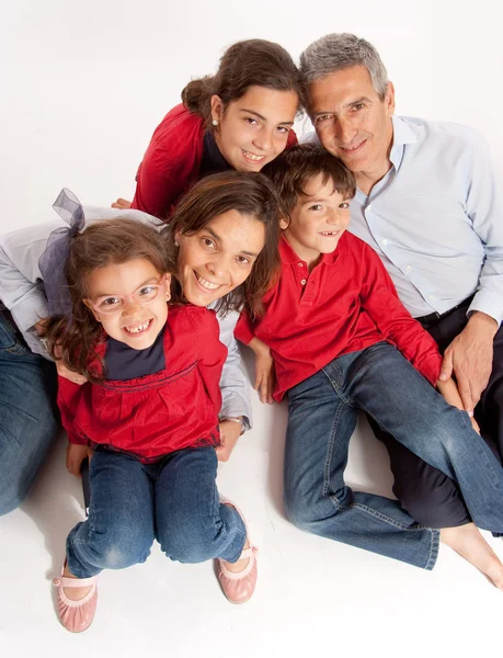
[[[502,532],[503,469],[468,416],[447,405],[388,343],[361,354],[350,393],[362,408],[382,430],[458,483],[478,526]]]

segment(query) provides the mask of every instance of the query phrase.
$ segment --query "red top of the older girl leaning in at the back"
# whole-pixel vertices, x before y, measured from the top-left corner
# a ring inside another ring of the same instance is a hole
[[[165,219],[179,197],[199,178],[205,127],[197,114],[180,104],[153,132],[136,175],[132,207]],[[297,144],[294,131],[286,147]]]

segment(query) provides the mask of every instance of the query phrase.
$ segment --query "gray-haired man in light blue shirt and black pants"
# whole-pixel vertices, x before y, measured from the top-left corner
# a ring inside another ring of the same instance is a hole
[[[393,116],[376,48],[330,34],[300,56],[318,139],[351,169],[350,230],[380,256],[403,305],[444,354],[469,416],[503,455],[503,220],[489,149],[466,126]],[[470,521],[456,485],[374,428],[395,492],[434,527]],[[469,460],[469,455],[467,455]]]

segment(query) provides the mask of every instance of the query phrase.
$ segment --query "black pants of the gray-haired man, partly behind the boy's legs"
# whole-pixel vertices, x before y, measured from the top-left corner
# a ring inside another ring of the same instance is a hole
[[[442,353],[467,324],[471,298],[432,324],[423,324]],[[489,384],[475,409],[480,432],[500,462],[503,457],[503,328],[494,338]],[[369,419],[370,420],[370,419]],[[471,521],[457,484],[425,464],[370,420],[376,436],[389,453],[395,476],[393,494],[413,519],[430,527],[454,527]]]

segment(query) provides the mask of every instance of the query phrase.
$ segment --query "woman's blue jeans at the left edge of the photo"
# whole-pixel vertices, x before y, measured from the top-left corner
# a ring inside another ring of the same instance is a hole
[[[34,354],[0,304],[0,514],[27,496],[59,432],[57,376]]]

